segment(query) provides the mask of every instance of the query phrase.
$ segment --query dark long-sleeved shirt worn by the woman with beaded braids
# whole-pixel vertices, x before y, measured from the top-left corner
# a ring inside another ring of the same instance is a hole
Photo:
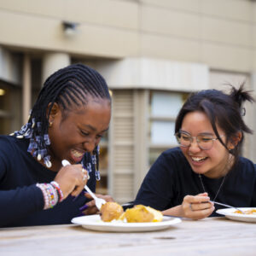
[[[44,196],[36,183],[53,181],[57,172],[39,164],[26,151],[28,143],[27,139],[0,136],[0,227],[70,224],[81,214],[79,207],[87,199],[83,193],[75,200],[69,195],[55,207],[43,210]],[[87,185],[95,191],[93,167]]]

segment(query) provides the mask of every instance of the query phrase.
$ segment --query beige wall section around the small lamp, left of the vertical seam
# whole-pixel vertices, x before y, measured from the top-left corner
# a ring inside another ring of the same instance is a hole
[[[73,38],[63,21],[79,23]],[[0,44],[120,58],[138,53],[138,5],[113,0],[0,1]]]

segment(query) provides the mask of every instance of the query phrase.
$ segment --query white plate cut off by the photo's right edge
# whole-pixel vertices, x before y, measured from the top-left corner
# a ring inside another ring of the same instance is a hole
[[[256,209],[256,207],[238,207],[238,209],[241,209],[242,211],[247,211],[251,209]],[[256,215],[255,214],[241,214],[241,213],[234,213],[236,212],[236,209],[233,208],[225,208],[225,209],[219,209],[216,211],[218,214],[225,215],[226,218],[230,218],[233,220],[238,221],[245,221],[245,222],[256,222]]]

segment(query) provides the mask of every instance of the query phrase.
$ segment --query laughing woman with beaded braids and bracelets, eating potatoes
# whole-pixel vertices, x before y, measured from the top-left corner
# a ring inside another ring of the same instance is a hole
[[[27,124],[0,137],[0,226],[69,224],[96,212],[81,192],[100,179],[98,144],[110,115],[108,85],[94,69],[74,64],[45,81]]]

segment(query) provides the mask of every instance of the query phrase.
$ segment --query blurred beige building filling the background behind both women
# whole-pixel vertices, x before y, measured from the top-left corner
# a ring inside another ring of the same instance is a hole
[[[0,0],[0,134],[20,130],[44,80],[76,62],[102,73],[113,96],[96,190],[131,201],[157,156],[177,146],[190,92],[243,81],[255,90],[256,2]],[[256,108],[246,108],[256,130]],[[242,149],[254,162],[255,139]]]

